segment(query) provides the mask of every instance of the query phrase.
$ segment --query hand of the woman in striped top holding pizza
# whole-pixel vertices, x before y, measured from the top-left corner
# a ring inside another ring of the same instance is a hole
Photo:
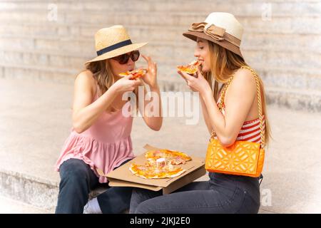
[[[200,72],[200,67],[198,67],[197,78],[194,76],[190,76],[188,73],[182,71],[178,71],[178,73],[185,79],[190,90],[193,90],[194,92],[199,92],[200,94],[212,90],[210,88],[210,85],[208,84],[208,81],[206,81],[206,79]]]

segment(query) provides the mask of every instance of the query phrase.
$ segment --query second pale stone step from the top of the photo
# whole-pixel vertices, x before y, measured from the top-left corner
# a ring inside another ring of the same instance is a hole
[[[243,8],[242,8],[243,9]],[[253,9],[252,9],[253,10]],[[58,11],[61,12],[61,11]],[[258,28],[260,31],[270,31],[271,33],[282,32],[282,33],[300,33],[300,34],[320,34],[321,28],[320,18],[312,15],[300,15],[300,16],[272,16],[271,20],[264,21],[258,11],[258,16],[238,16],[238,19],[245,28]],[[23,23],[40,23],[40,24],[64,24],[64,25],[89,25],[97,24],[97,21],[104,21],[103,25],[112,24],[125,24],[126,26],[182,26],[188,28],[190,24],[203,21],[210,11],[202,13],[184,12],[184,11],[111,11],[106,14],[106,11],[96,12],[88,14],[79,14],[79,11],[66,11],[58,13],[57,20],[51,21],[48,18],[49,11],[46,9],[42,10],[14,10],[14,11],[3,11],[0,14],[0,20],[4,22],[14,24]],[[146,20],[146,18],[148,20]],[[309,26],[306,26],[309,24]],[[254,29],[255,31],[255,29]]]

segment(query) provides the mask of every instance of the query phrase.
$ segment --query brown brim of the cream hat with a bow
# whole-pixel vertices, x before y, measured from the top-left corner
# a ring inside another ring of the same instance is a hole
[[[212,41],[213,43],[217,43],[218,45],[223,46],[223,48],[226,48],[229,51],[232,51],[233,53],[243,58],[242,53],[240,52],[240,48],[238,46],[235,46],[233,43],[230,43],[226,40],[216,41],[215,39],[203,33],[203,31],[186,31],[185,33],[183,33],[183,36],[190,38],[193,41],[196,41],[198,37],[204,38],[205,40]]]

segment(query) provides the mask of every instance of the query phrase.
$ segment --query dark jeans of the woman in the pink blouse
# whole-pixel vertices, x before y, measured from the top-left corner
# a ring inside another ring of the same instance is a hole
[[[56,214],[82,214],[83,207],[88,202],[89,192],[99,186],[108,187],[108,184],[98,182],[98,177],[83,160],[66,160],[61,164],[59,174],[61,181]],[[106,192],[97,197],[101,211],[121,213],[128,209],[132,190],[131,187],[108,187]]]

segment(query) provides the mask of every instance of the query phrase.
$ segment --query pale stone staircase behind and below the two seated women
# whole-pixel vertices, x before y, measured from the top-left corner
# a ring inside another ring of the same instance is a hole
[[[94,33],[123,24],[133,42],[148,41],[142,52],[158,63],[161,89],[186,90],[175,66],[193,59],[195,43],[181,34],[211,11],[228,11],[243,24],[241,49],[263,78],[270,105],[320,113],[318,0],[4,0],[0,2],[0,78],[72,86],[83,62],[95,56]],[[144,64],[141,59],[137,65]],[[55,178],[1,168],[0,190],[53,212],[58,193]]]

